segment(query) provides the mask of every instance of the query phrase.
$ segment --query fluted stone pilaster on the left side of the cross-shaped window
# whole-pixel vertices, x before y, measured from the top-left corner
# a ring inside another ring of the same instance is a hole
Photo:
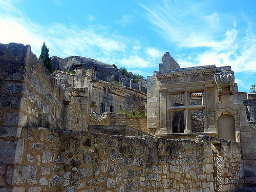
[[[160,102],[160,130],[159,133],[167,133],[167,102],[166,102],[167,89],[159,90],[159,102]]]

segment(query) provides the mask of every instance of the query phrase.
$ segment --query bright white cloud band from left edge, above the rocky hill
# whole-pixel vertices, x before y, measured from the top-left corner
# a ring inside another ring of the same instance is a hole
[[[12,4],[6,3],[5,7],[8,10]],[[50,56],[56,55],[62,58],[73,55],[85,56],[136,71],[139,68],[152,67],[159,54],[156,48],[141,50],[146,42],[113,33],[106,26],[91,25],[81,28],[77,25],[67,26],[61,23],[49,23],[44,26],[32,22],[19,10],[13,10],[15,12],[8,11],[8,16],[4,14],[6,11],[0,14],[0,42],[30,45],[37,56],[45,41]],[[88,18],[91,21],[94,19],[92,15]],[[128,18],[130,17],[123,17],[124,23],[128,23]],[[141,56],[137,54],[138,50],[143,52]]]

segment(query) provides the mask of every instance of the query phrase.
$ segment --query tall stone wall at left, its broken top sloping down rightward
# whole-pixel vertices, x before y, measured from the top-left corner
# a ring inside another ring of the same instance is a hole
[[[87,130],[88,103],[82,106],[58,86],[30,50],[22,44],[0,44],[1,134],[32,126]]]

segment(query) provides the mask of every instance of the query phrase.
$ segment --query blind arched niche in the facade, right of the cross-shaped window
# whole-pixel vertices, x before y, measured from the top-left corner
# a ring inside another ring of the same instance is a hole
[[[218,118],[219,138],[236,141],[234,118],[231,115],[221,115]]]

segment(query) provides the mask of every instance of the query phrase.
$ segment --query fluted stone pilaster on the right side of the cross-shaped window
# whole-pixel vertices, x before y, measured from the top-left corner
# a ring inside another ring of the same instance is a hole
[[[205,119],[206,126],[204,132],[217,132],[214,122],[214,112],[216,111],[216,103],[214,101],[214,84],[205,84],[204,89]]]

